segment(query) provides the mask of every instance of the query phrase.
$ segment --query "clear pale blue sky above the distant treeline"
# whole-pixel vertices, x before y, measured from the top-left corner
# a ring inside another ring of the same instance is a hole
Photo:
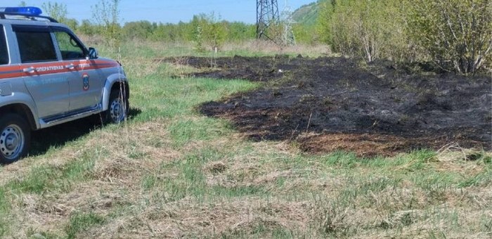
[[[293,10],[316,0],[288,0]],[[0,0],[0,6],[18,6],[20,0]],[[44,1],[25,0],[27,6],[41,6]],[[67,5],[68,17],[77,20],[90,19],[91,6],[99,0],[58,0],[51,1]],[[278,0],[279,11],[285,0]],[[122,22],[149,20],[150,22],[188,22],[198,13],[220,15],[221,20],[254,23],[256,21],[255,0],[120,0]]]

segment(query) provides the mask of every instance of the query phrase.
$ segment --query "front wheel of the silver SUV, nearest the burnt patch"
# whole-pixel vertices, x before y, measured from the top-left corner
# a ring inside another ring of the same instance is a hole
[[[124,92],[119,89],[111,91],[108,110],[103,113],[105,123],[119,124],[127,120],[130,104]]]

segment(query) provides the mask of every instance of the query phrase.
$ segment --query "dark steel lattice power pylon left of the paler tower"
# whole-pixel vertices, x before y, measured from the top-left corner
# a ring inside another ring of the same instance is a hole
[[[277,0],[257,0],[257,39],[269,39],[277,42],[278,35],[268,34],[268,28],[278,26],[280,15],[278,14]]]

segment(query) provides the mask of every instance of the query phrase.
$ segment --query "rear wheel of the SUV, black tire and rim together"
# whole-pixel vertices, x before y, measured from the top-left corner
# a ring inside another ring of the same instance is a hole
[[[27,155],[31,129],[24,117],[7,113],[0,117],[0,162],[8,164]]]

